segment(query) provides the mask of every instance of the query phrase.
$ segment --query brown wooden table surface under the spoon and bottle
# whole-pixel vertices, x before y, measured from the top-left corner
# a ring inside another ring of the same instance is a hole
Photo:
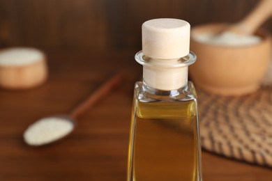
[[[126,180],[133,84],[142,74],[135,51],[48,53],[50,78],[29,91],[0,91],[0,180]],[[33,121],[68,113],[120,68],[130,74],[79,120],[67,139],[24,144]],[[272,180],[272,170],[202,151],[206,181]]]

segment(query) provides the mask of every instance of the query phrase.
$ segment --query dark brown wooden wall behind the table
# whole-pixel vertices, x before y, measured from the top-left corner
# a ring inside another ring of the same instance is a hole
[[[0,0],[0,47],[140,49],[141,24],[175,17],[192,26],[236,22],[258,0]],[[264,26],[272,31],[272,19]]]

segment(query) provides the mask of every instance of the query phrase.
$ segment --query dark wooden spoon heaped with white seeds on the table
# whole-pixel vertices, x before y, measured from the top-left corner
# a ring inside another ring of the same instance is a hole
[[[109,79],[103,86],[91,93],[81,104],[68,114],[53,115],[47,118],[37,120],[29,125],[24,132],[24,141],[33,146],[47,145],[54,143],[68,136],[73,129],[75,123],[86,110],[92,107],[98,100],[105,97],[112,88],[121,84],[125,77],[126,71],[122,70]],[[64,128],[65,127],[65,128]]]

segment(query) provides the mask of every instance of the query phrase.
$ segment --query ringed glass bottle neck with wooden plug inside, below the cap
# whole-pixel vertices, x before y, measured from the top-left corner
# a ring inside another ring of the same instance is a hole
[[[196,56],[190,52],[187,56],[172,59],[159,59],[137,52],[135,60],[143,65],[144,84],[159,91],[175,91],[187,85],[188,66],[195,62]]]

